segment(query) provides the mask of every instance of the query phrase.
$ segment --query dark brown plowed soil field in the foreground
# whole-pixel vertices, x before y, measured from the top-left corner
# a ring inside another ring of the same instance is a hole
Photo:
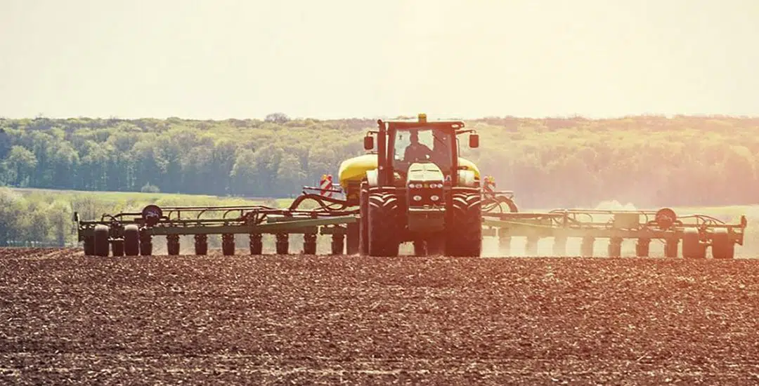
[[[0,384],[757,384],[759,260],[0,249]]]

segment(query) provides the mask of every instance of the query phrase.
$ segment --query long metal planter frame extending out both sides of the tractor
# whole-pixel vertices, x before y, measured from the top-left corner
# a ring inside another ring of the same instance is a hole
[[[703,240],[713,237],[713,231],[724,229],[730,242],[743,245],[747,225],[745,216],[740,224],[726,224],[708,215],[677,216],[670,226],[657,224],[657,211],[653,210],[600,210],[556,209],[550,212],[502,212],[502,203],[496,194],[510,191],[483,192],[482,226],[484,236],[498,237],[592,237],[609,239],[663,239],[682,240],[685,232],[696,229]],[[490,198],[488,198],[490,197]],[[488,199],[490,201],[488,201]],[[320,208],[299,210],[305,199],[315,199]],[[492,201],[492,202],[491,202]],[[297,204],[297,205],[296,205]],[[501,209],[496,211],[496,207]],[[92,237],[98,224],[109,226],[109,237],[123,237],[124,226],[137,224],[141,232],[150,236],[208,235],[208,234],[347,234],[347,225],[358,221],[358,209],[346,209],[348,202],[329,199],[320,195],[304,193],[294,201],[290,209],[267,206],[167,206],[155,223],[146,224],[142,212],[122,212],[102,215],[100,221],[79,221],[79,240]],[[222,212],[216,218],[200,218],[202,215]],[[234,213],[234,216],[231,214]],[[191,215],[191,218],[183,218]],[[616,216],[627,215],[626,221],[616,223]],[[638,216],[638,221],[635,217]],[[131,218],[130,218],[131,217]],[[600,220],[603,218],[603,221]],[[621,226],[620,224],[624,224]]]

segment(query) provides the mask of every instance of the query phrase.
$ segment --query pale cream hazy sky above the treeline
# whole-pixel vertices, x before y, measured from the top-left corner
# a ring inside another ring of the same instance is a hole
[[[0,117],[759,115],[757,0],[0,0]]]

